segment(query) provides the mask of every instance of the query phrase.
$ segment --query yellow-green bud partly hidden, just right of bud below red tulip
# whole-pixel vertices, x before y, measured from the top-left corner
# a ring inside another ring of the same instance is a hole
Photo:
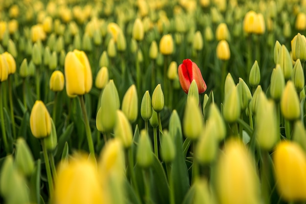
[[[224,124],[224,120],[221,116],[221,113],[219,111],[219,109],[217,108],[215,103],[212,103],[210,105],[210,109],[209,109],[209,120],[212,121],[213,124],[216,125],[216,138],[221,141],[224,139],[224,137],[226,136],[226,127]]]

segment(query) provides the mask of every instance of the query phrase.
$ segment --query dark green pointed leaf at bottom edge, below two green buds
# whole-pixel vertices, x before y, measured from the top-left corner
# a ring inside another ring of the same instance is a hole
[[[153,154],[153,153],[152,153]],[[169,203],[169,185],[164,171],[158,158],[153,154],[153,164],[151,172],[151,187],[153,191],[153,201],[156,204],[168,204]]]

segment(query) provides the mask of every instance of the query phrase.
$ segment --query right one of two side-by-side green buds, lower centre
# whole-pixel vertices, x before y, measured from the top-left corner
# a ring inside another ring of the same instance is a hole
[[[161,158],[166,163],[170,163],[175,158],[175,145],[172,137],[168,131],[163,132],[163,136],[160,141],[160,154]]]

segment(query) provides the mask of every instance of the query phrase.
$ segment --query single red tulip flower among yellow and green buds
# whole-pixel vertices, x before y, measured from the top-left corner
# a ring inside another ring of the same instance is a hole
[[[183,63],[178,66],[179,83],[185,93],[188,93],[190,84],[193,80],[197,82],[198,93],[206,91],[207,87],[202,77],[197,64],[190,59],[183,60]]]

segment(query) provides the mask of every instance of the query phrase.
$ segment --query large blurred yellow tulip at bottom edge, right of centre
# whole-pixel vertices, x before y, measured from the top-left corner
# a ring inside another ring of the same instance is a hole
[[[216,172],[219,204],[261,203],[254,159],[240,140],[229,140],[224,147]]]

